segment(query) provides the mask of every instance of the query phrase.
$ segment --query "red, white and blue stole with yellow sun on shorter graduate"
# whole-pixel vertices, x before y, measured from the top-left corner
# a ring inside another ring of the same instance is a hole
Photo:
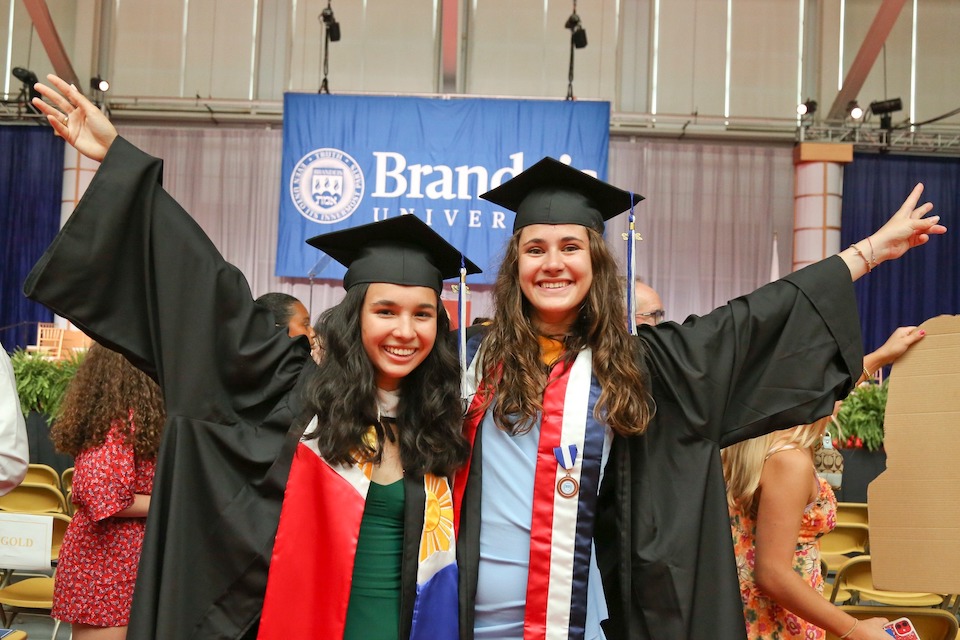
[[[313,428],[311,423],[307,432]],[[372,472],[369,463],[329,464],[320,456],[316,440],[297,445],[270,562],[259,640],[343,636]],[[424,476],[424,490],[410,638],[456,640],[453,495],[447,479],[432,474]]]

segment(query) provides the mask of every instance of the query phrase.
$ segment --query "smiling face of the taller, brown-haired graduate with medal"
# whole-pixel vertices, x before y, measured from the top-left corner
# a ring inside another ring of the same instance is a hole
[[[545,335],[565,333],[576,320],[593,282],[586,227],[524,227],[518,252],[520,290],[532,307],[534,326]]]

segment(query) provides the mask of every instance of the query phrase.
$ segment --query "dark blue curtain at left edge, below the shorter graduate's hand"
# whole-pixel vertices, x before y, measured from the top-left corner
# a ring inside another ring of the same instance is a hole
[[[0,126],[0,341],[13,351],[53,314],[23,281],[60,228],[63,140],[46,126]]]

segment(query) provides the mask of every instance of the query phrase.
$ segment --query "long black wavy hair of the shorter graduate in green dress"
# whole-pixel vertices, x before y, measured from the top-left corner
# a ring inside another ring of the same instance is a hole
[[[368,285],[347,291],[317,323],[323,358],[305,385],[306,403],[316,413],[316,438],[324,459],[333,464],[379,463],[384,438],[377,421],[376,371],[360,334],[360,316]],[[462,434],[460,370],[450,320],[437,296],[437,340],[430,354],[400,382],[397,440],[408,473],[450,475],[467,459]],[[377,441],[367,433],[374,427]]]

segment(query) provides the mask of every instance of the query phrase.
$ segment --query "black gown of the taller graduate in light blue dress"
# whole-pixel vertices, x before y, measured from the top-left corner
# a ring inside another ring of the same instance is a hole
[[[615,437],[594,541],[609,640],[743,640],[720,447],[829,414],[863,366],[840,258],[790,274],[682,325],[642,328],[656,414]],[[461,638],[473,637],[480,433],[458,538]],[[459,480],[459,478],[458,478]]]

